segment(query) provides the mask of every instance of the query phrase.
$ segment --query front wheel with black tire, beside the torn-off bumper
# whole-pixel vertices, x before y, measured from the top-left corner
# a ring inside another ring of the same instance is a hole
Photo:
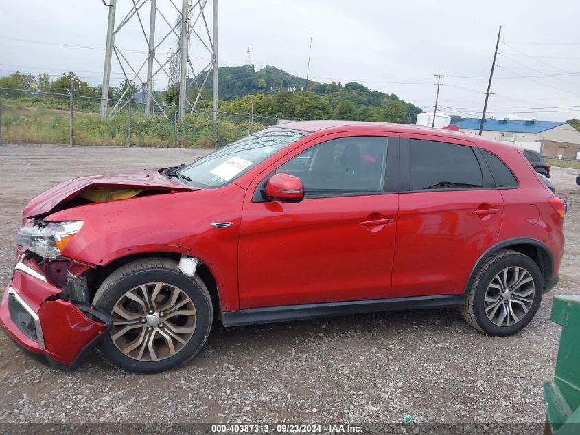
[[[131,372],[161,372],[189,361],[205,344],[213,322],[205,283],[182,274],[168,258],[119,267],[99,287],[93,304],[113,323],[99,352],[109,364]]]

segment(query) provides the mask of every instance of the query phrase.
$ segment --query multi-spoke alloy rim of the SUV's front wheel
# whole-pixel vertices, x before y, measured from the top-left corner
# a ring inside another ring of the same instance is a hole
[[[149,282],[130,289],[111,312],[111,339],[139,361],[159,361],[182,350],[196,329],[194,302],[182,289]]]

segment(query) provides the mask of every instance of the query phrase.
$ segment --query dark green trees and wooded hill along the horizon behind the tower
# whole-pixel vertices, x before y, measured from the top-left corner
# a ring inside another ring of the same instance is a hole
[[[255,71],[253,66],[220,67],[219,110],[231,113],[248,113],[255,115],[277,116],[291,120],[357,120],[383,121],[413,124],[419,107],[399,100],[391,93],[371,91],[360,83],[320,83],[292,76],[276,67],[265,67]],[[199,78],[201,79],[201,78]],[[205,101],[211,100],[211,73],[206,81]],[[188,93],[194,92],[194,79],[189,79]],[[2,89],[3,88],[3,89]],[[124,93],[125,89],[128,93]],[[19,91],[14,89],[24,89]],[[16,72],[8,77],[0,78],[0,96],[8,98],[23,98],[36,92],[51,92],[66,97],[69,90],[79,97],[86,97],[81,105],[89,109],[91,104],[98,103],[101,96],[101,86],[91,86],[81,80],[73,72],[51,80],[47,74],[31,74]],[[137,90],[134,83],[124,80],[118,87],[111,87],[108,96],[117,100]],[[178,100],[178,90],[156,91],[158,101],[172,106]],[[90,100],[94,98],[95,100]],[[63,100],[65,98],[62,98]],[[143,95],[137,94],[135,102],[142,102]]]

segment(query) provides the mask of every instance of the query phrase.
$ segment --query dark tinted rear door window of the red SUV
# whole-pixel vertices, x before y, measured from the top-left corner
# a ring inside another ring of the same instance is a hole
[[[410,190],[480,189],[483,176],[471,146],[410,140]]]

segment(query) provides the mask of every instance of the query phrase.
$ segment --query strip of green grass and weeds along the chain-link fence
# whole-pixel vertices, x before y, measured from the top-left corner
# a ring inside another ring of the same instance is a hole
[[[56,107],[55,107],[56,106]],[[80,107],[79,109],[82,109]],[[164,115],[145,118],[137,109],[131,116],[132,146],[174,147],[175,124],[173,109]],[[69,144],[70,112],[67,102],[46,105],[42,102],[3,100],[2,137],[11,144]],[[234,142],[246,135],[264,129],[254,122],[248,126],[247,118],[235,119],[220,115],[218,122],[218,146]],[[178,124],[180,148],[213,148],[213,121],[205,113],[189,114],[185,122]],[[105,121],[96,112],[73,111],[73,144],[126,146],[128,144],[129,119],[124,110]]]

